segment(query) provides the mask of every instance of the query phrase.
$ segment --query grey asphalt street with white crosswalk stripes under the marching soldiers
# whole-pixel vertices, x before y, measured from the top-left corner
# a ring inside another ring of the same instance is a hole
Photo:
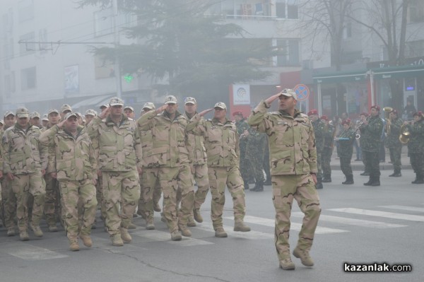
[[[365,187],[368,177],[354,171],[353,185],[342,185],[344,177],[334,170],[331,183],[319,190],[322,214],[311,256],[315,265],[302,266],[292,256],[295,271],[278,268],[273,247],[274,210],[271,187],[264,192],[246,192],[245,222],[249,233],[232,231],[232,201],[226,193],[224,228],[228,238],[214,237],[210,194],[202,206],[204,223],[192,230],[192,238],[172,242],[160,213],[156,230],[130,230],[133,242],[112,247],[98,221],[93,247],[69,252],[62,228],[41,239],[30,231],[30,241],[6,237],[0,229],[0,281],[423,281],[424,184],[411,184],[412,170],[402,177],[387,177],[382,170],[380,187]],[[252,186],[252,184],[251,184]],[[302,213],[293,204],[290,233],[294,249]],[[350,264],[411,264],[411,272],[347,273]]]

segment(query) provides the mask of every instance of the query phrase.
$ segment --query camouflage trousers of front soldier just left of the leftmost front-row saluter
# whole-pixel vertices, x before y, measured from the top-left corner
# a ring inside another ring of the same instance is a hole
[[[34,197],[33,216],[34,225],[40,225],[44,211],[46,184],[41,172],[26,175],[14,175],[12,190],[16,196],[16,217],[18,218],[19,231],[26,231],[28,226],[28,197]]]

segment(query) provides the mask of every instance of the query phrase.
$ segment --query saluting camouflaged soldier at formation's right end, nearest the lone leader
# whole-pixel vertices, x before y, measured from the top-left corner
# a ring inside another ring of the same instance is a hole
[[[213,119],[202,119],[215,110]],[[225,185],[232,196],[234,231],[248,232],[245,225],[245,189],[239,170],[239,140],[234,122],[227,119],[227,106],[217,102],[213,109],[194,114],[187,125],[187,132],[204,136],[208,158],[208,179],[211,188],[211,218],[216,237],[228,237],[223,228]]]

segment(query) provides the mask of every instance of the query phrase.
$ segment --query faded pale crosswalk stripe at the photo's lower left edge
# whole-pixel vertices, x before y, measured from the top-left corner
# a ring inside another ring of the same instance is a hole
[[[7,252],[13,257],[18,257],[20,259],[25,259],[29,261],[61,259],[64,257],[69,257],[66,254],[59,254],[58,252],[53,252],[49,249],[35,247],[33,245],[25,243],[9,244],[7,246],[2,247],[1,251]]]

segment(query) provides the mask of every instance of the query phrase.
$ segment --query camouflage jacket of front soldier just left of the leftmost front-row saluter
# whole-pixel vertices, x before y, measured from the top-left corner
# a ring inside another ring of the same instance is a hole
[[[39,142],[40,129],[19,124],[9,127],[3,134],[4,174],[13,175],[38,172],[47,168],[47,147]]]

